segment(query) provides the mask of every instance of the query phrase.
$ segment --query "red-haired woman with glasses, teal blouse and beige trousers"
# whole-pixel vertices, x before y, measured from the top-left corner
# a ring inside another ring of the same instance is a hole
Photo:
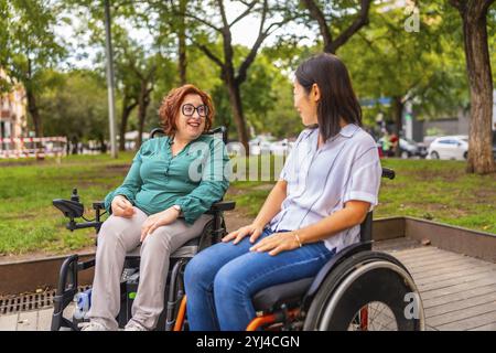
[[[204,213],[228,188],[224,142],[203,135],[214,118],[211,97],[193,85],[182,86],[163,99],[159,115],[165,137],[141,146],[122,185],[105,199],[111,215],[98,234],[85,331],[117,330],[125,257],[140,244],[140,284],[125,330],[154,329],[164,306],[170,255],[201,234],[212,218]]]

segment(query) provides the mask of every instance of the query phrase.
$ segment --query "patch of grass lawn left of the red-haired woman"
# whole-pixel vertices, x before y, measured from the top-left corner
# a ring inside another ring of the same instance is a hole
[[[0,162],[0,255],[30,252],[62,253],[94,244],[94,229],[68,232],[53,199],[68,199],[73,188],[86,208],[116,188],[132,159],[122,153],[118,160],[108,156],[74,156],[57,163],[45,161]],[[86,216],[90,216],[87,213]]]

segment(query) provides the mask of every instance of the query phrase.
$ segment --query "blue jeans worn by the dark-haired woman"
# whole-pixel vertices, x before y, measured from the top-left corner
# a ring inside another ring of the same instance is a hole
[[[283,232],[283,231],[280,231]],[[266,228],[260,239],[272,234]],[[184,285],[192,331],[244,331],[255,319],[251,297],[263,288],[315,276],[335,254],[323,242],[276,256],[252,253],[249,236],[237,245],[219,243],[187,264]]]

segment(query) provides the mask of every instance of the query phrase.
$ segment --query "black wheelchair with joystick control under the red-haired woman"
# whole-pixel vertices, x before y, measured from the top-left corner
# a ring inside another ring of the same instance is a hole
[[[227,129],[225,127],[213,129],[207,133],[222,138],[223,141],[227,143]],[[163,130],[160,128],[153,129],[150,132],[150,138],[155,138],[159,135],[163,135]],[[76,189],[73,191],[71,200],[56,199],[53,200],[53,205],[69,218],[66,228],[71,232],[93,227],[98,233],[101,224],[104,223],[101,221],[101,216],[106,213],[104,202],[93,203],[95,218],[93,221],[87,221],[84,218],[84,205],[79,202],[79,195],[77,195]],[[226,235],[224,212],[234,208],[235,202],[233,201],[219,201],[214,203],[211,206],[211,210],[206,212],[207,214],[213,215],[213,217],[205,225],[202,233],[171,255],[170,270],[168,274],[168,281],[164,292],[165,306],[157,325],[159,331],[170,331],[174,328],[175,318],[179,311],[179,303],[184,297],[184,284],[182,279],[184,268],[188,259],[191,259],[200,250],[211,246],[212,244],[220,242],[220,239]],[[83,217],[85,222],[76,223],[75,218],[79,217]],[[79,292],[78,272],[94,266],[95,259],[79,261],[78,255],[67,257],[62,264],[57,289],[53,298],[54,312],[52,315],[52,331],[58,331],[62,328],[67,328],[75,331],[79,330],[78,323],[84,321],[84,319],[73,315],[69,320],[64,317],[64,310],[73,302],[74,297]],[[119,328],[123,328],[131,318],[131,307],[139,285],[139,266],[140,252],[138,247],[136,250],[127,254],[120,279],[120,311],[116,318],[119,323]]]

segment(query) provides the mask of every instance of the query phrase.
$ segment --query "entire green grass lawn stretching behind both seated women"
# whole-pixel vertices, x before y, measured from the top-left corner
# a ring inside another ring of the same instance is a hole
[[[53,199],[68,199],[78,188],[87,208],[118,186],[133,153],[71,156],[58,163],[0,162],[0,255],[31,252],[64,253],[90,246],[93,229],[65,229],[66,220],[52,206]],[[496,175],[467,175],[464,163],[430,160],[384,160],[396,170],[382,180],[376,217],[410,215],[496,234]],[[255,216],[273,181],[234,182],[226,200],[237,212]]]

